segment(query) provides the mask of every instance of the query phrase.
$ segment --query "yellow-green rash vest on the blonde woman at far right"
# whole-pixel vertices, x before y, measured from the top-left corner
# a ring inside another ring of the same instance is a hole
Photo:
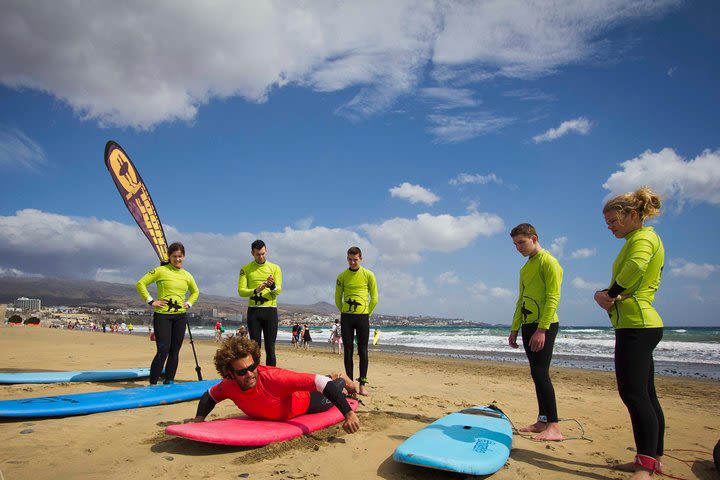
[[[665,264],[665,248],[652,227],[643,227],[625,235],[625,245],[613,263],[612,281],[624,290],[624,300],[610,309],[615,328],[659,328],[662,318],[653,308],[655,292]]]

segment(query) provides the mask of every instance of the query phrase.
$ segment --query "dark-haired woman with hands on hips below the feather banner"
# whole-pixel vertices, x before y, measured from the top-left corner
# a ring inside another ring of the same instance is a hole
[[[169,262],[163,262],[158,268],[153,268],[138,280],[135,288],[140,297],[154,307],[153,328],[155,330],[155,345],[157,353],[150,365],[150,384],[155,385],[160,378],[163,366],[165,367],[165,384],[175,381],[180,347],[185,339],[187,319],[185,312],[197,300],[200,291],[195,279],[187,270],[182,268],[185,260],[185,247],[175,242],[168,247]],[[158,299],[152,298],[147,286],[155,283],[158,289]],[[185,295],[190,297],[185,300]],[[167,360],[167,365],[165,364]]]

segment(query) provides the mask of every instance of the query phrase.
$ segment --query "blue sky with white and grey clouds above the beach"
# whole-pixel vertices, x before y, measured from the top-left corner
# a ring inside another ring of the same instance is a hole
[[[235,296],[261,238],[281,304],[332,303],[357,245],[378,313],[509,324],[529,222],[561,323],[609,325],[602,206],[650,185],[655,306],[719,326],[719,22],[711,0],[0,2],[0,275],[156,264],[114,140],[201,294]]]

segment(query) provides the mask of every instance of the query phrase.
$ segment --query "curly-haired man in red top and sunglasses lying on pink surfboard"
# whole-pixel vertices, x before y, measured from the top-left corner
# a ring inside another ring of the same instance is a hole
[[[200,398],[194,422],[203,422],[218,402],[232,400],[246,415],[261,420],[288,420],[332,406],[345,416],[343,429],[355,433],[360,420],[343,390],[355,393],[353,382],[341,374],[298,373],[260,365],[260,347],[248,338],[230,337],[215,353],[215,368],[223,380]]]

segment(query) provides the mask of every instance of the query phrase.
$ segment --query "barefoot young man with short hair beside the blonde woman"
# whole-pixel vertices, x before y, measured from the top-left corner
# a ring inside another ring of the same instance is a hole
[[[522,325],[522,343],[538,403],[537,421],[520,431],[536,433],[533,440],[562,440],[550,362],[559,328],[557,308],[563,269],[555,257],[540,246],[537,230],[529,223],[513,228],[510,237],[528,261],[520,269],[520,292],[508,343],[518,348],[517,336]]]

